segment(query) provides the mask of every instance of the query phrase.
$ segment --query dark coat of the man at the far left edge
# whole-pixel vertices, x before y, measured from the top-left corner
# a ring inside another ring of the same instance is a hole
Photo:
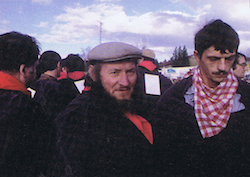
[[[0,176],[35,177],[46,170],[48,122],[20,91],[0,90]]]

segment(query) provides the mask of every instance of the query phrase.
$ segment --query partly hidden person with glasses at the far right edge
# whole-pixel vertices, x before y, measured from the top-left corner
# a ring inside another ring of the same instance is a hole
[[[233,67],[234,75],[239,79],[243,79],[245,77],[246,66],[246,56],[242,53],[238,53],[236,65]]]

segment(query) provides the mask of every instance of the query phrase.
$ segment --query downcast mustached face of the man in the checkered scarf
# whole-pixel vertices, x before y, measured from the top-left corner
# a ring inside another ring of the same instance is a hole
[[[227,78],[236,58],[236,52],[231,53],[226,50],[225,53],[221,53],[211,46],[204,50],[201,58],[195,51],[195,57],[199,62],[203,82],[207,86],[215,88]]]

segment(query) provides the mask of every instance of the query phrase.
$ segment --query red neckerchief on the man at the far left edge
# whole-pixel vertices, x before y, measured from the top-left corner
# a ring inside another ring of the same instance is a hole
[[[2,71],[0,71],[0,89],[21,91],[24,94],[31,96],[31,93],[27,90],[25,84],[10,74]]]

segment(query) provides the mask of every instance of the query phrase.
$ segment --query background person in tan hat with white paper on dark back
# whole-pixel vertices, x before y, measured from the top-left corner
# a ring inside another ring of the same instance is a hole
[[[155,52],[151,49],[142,50],[142,58],[139,60],[137,72],[145,114],[148,115],[152,112],[160,96],[172,86],[172,82],[158,71]]]

